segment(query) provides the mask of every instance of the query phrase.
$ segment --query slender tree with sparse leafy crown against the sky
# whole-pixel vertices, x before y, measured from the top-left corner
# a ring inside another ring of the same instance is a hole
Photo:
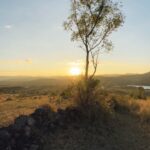
[[[97,71],[100,52],[112,49],[108,37],[122,25],[123,20],[119,3],[112,0],[71,0],[71,14],[64,22],[64,28],[71,31],[71,40],[80,42],[85,51],[86,81],[92,79]],[[90,63],[93,66],[91,75]]]

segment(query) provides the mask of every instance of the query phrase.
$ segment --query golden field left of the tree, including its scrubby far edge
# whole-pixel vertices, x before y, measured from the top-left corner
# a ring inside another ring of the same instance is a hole
[[[12,89],[14,89],[13,92]],[[57,94],[52,90],[45,92],[42,87],[17,90],[15,87],[5,87],[1,88],[1,91],[3,92],[0,93],[0,127],[13,123],[14,119],[20,115],[31,114],[42,105],[51,105],[54,110],[68,105],[68,101],[61,100],[58,91],[55,91]]]

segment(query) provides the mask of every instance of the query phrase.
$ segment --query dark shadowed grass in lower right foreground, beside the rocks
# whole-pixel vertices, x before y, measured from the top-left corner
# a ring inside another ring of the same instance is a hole
[[[44,150],[148,150],[150,129],[127,114],[117,114],[112,129],[102,125],[69,127],[47,138]],[[148,130],[149,129],[149,130]]]

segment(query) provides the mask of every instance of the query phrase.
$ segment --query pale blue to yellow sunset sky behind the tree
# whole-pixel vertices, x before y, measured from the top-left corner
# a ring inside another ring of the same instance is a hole
[[[122,0],[125,23],[114,49],[99,58],[97,74],[150,71],[150,1]],[[0,0],[0,76],[69,75],[85,53],[63,29],[70,0]]]

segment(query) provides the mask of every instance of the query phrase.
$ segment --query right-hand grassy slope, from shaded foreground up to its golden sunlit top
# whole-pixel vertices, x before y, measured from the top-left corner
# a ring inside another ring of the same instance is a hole
[[[46,137],[44,150],[149,150],[150,100],[120,102],[115,119],[69,125]],[[88,110],[87,110],[88,111]]]

